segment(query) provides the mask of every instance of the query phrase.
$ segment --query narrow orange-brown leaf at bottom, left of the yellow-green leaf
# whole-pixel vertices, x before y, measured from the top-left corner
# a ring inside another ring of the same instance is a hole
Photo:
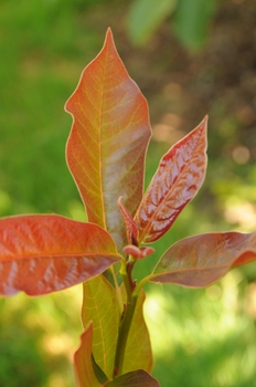
[[[100,387],[102,383],[98,381],[93,359],[92,359],[92,346],[93,346],[93,324],[88,324],[85,332],[81,336],[81,346],[74,355],[74,366],[76,374],[76,381],[78,387]]]

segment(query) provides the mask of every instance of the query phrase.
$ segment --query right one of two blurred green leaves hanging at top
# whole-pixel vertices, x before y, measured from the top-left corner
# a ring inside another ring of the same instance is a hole
[[[180,0],[173,28],[180,41],[191,50],[200,49],[207,36],[215,0]]]

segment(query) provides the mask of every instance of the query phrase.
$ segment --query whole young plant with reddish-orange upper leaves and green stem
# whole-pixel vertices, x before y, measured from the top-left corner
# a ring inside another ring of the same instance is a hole
[[[256,233],[216,232],[171,245],[140,282],[145,245],[161,238],[203,184],[206,122],[162,157],[146,194],[148,106],[116,51],[111,31],[66,103],[73,116],[66,159],[88,223],[57,215],[0,220],[0,294],[41,295],[83,282],[84,333],[77,386],[159,386],[142,305],[147,282],[202,287],[256,260]]]

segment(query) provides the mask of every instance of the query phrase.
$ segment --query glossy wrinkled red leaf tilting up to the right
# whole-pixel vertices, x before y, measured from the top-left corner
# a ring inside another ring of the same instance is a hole
[[[139,242],[161,238],[202,186],[206,169],[206,124],[207,117],[162,157],[135,216]]]

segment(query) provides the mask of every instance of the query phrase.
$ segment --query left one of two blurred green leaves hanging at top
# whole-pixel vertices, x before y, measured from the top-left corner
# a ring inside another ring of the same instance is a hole
[[[128,14],[128,34],[132,43],[149,42],[153,32],[174,10],[177,0],[136,0]]]

